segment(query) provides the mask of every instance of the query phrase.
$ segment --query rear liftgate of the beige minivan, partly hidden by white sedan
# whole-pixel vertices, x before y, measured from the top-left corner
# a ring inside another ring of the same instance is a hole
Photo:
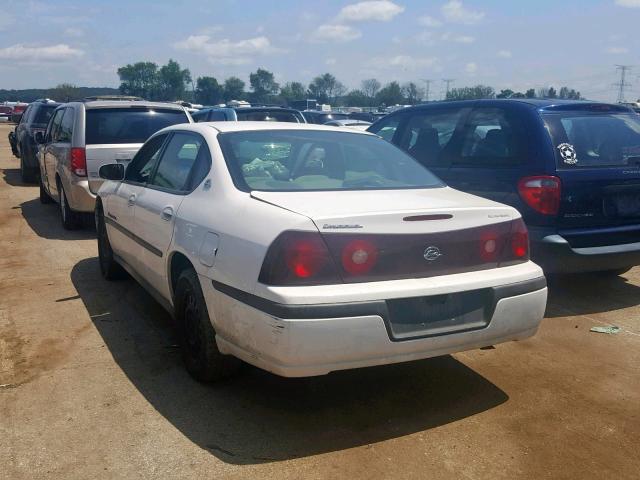
[[[89,189],[97,193],[102,180],[98,170],[108,163],[131,161],[142,144],[158,130],[188,123],[184,110],[151,106],[87,108],[85,145]]]

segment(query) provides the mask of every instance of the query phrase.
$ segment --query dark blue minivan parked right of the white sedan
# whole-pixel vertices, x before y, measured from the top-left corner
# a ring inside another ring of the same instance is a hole
[[[640,115],[562,100],[438,102],[368,129],[458,190],[517,208],[546,273],[640,265]]]

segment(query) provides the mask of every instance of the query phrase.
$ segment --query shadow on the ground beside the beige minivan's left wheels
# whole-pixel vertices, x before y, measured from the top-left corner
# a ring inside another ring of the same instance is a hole
[[[60,221],[58,204],[42,204],[35,198],[13,207],[22,210],[22,216],[40,237],[50,240],[88,240],[96,237],[95,227],[87,218],[77,230],[65,230]]]

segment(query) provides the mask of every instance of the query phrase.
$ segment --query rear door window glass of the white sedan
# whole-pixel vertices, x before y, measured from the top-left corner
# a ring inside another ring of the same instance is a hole
[[[202,137],[174,133],[149,185],[180,192],[190,190],[191,171],[198,158],[203,155],[208,155],[208,147]]]

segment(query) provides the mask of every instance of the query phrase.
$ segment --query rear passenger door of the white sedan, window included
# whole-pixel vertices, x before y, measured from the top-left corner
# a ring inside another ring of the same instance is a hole
[[[174,132],[136,200],[133,229],[143,245],[136,269],[166,298],[170,298],[166,254],[176,216],[184,196],[204,179],[210,165],[204,138],[193,132]]]

